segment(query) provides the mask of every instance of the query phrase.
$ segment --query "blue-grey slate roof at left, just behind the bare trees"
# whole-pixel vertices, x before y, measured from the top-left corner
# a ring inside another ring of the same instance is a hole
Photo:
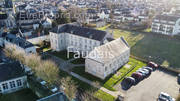
[[[11,43],[18,45],[21,48],[24,48],[24,49],[34,46],[32,43],[26,41],[25,39],[23,39],[21,37],[16,37],[13,34],[7,34],[6,40],[11,42]]]

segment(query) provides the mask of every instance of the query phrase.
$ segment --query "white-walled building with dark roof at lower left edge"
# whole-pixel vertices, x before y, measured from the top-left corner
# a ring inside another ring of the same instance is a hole
[[[12,93],[27,87],[27,76],[19,62],[0,63],[0,93]]]

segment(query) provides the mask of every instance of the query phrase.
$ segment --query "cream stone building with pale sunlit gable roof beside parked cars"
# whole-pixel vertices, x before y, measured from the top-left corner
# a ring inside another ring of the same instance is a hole
[[[85,60],[85,72],[105,79],[126,64],[129,56],[130,47],[121,37],[91,51]]]

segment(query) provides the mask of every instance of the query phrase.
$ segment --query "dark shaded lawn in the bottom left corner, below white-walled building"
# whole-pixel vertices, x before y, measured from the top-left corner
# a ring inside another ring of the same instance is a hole
[[[15,93],[0,95],[0,101],[36,101],[38,97],[30,90],[24,89]]]

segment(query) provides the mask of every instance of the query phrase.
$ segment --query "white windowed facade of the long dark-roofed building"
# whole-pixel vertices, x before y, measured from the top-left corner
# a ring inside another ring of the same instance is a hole
[[[100,41],[81,37],[70,33],[50,32],[51,48],[55,51],[69,50],[82,53],[90,52],[95,47],[100,46]]]

